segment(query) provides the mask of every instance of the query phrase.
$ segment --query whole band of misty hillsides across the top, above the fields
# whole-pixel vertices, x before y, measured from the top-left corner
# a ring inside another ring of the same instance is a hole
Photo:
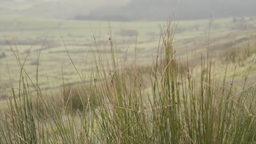
[[[152,21],[251,16],[254,0],[0,0],[0,14],[19,14],[55,19]]]

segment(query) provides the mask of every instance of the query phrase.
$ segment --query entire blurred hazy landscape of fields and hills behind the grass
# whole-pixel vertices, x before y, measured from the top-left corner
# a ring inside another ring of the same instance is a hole
[[[22,62],[29,53],[27,74],[35,81],[39,65],[40,87],[52,88],[63,84],[62,75],[65,83],[80,81],[63,39],[86,81],[95,52],[111,56],[108,22],[118,57],[130,63],[136,53],[139,64],[150,65],[158,50],[159,25],[165,26],[173,14],[173,29],[178,22],[173,45],[181,59],[187,59],[187,52],[191,59],[201,58],[210,46],[222,65],[230,49],[243,49],[245,44],[251,49],[256,41],[256,0],[0,0],[0,100],[10,95],[10,85],[19,87],[19,65],[11,48]],[[238,73],[247,69],[242,66],[249,63],[246,56],[235,63],[241,65]],[[238,54],[234,58],[241,59]],[[256,74],[256,63],[252,73]]]

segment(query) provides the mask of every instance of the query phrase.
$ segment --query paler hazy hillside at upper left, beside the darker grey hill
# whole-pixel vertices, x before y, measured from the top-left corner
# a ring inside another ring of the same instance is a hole
[[[0,0],[0,14],[22,15],[28,17],[44,17],[51,19],[69,19],[75,15],[87,15],[101,5],[123,5],[126,1],[106,0]]]

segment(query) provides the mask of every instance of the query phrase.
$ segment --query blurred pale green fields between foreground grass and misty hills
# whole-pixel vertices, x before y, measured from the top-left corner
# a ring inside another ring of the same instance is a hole
[[[174,47],[177,56],[185,58],[199,58],[206,52],[208,46],[208,28],[210,20],[176,21],[178,24],[174,36]],[[246,28],[233,23],[231,18],[216,19],[211,23],[210,48],[218,56],[231,47],[254,42],[256,39],[256,21],[246,22]],[[132,62],[136,55],[141,64],[150,64],[158,47],[160,37],[159,26],[166,22],[110,22],[114,49],[118,56],[125,56],[126,61]],[[166,26],[165,26],[166,27]],[[80,81],[66,49],[62,38],[67,45],[69,54],[73,58],[79,73],[85,79],[90,76],[95,52],[109,53],[109,23],[102,21],[75,21],[29,18],[18,15],[0,15],[0,98],[8,95],[10,82],[13,87],[18,87],[19,67],[14,53],[11,51],[7,40],[13,50],[17,47],[21,61],[24,61],[27,52],[33,45],[30,55],[25,63],[25,70],[32,80],[36,79],[36,59],[44,43],[39,59],[39,86],[48,88],[62,85],[62,68],[65,83]],[[6,38],[6,39],[5,39]],[[16,44],[16,45],[15,45]],[[126,54],[127,50],[127,54]],[[16,51],[16,50],[15,50]],[[218,58],[218,57],[217,57]],[[250,61],[247,59],[246,61]],[[256,71],[256,64],[253,70]],[[247,69],[241,67],[238,71]],[[230,69],[232,71],[232,69]],[[253,72],[252,72],[253,73]],[[53,85],[54,83],[54,85]]]

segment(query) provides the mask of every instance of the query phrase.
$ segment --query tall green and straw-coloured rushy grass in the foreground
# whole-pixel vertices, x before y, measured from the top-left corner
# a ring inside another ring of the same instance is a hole
[[[146,70],[136,62],[127,68],[115,56],[110,37],[112,62],[96,53],[91,82],[82,84],[76,98],[65,87],[61,97],[44,92],[37,82],[32,91],[17,56],[20,91],[13,89],[9,109],[1,111],[0,142],[255,143],[255,84],[245,79],[235,90],[235,77],[225,78],[227,67],[221,77],[214,76],[208,57],[201,58],[199,78],[189,62],[179,73],[175,27],[171,21],[166,26],[160,27],[158,53]]]

